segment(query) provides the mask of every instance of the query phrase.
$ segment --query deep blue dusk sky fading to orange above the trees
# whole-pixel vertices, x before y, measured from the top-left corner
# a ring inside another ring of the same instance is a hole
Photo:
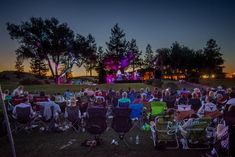
[[[193,49],[214,38],[235,72],[235,2],[232,0],[6,0],[0,3],[0,71],[14,69],[17,42],[6,22],[19,24],[30,17],[56,17],[82,35],[91,33],[99,46],[119,23],[127,39],[135,38],[145,51],[170,47],[174,41]],[[82,70],[83,71],[83,70]],[[78,73],[78,72],[76,72]]]

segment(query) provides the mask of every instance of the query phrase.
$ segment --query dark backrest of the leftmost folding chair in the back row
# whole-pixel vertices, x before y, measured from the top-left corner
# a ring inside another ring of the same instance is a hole
[[[30,107],[16,107],[17,121],[26,124],[30,121]]]

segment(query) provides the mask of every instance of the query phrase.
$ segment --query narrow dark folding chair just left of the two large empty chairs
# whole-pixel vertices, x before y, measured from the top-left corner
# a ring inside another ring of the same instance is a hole
[[[78,106],[67,106],[65,108],[65,118],[71,123],[71,127],[79,132],[81,126],[81,113]]]

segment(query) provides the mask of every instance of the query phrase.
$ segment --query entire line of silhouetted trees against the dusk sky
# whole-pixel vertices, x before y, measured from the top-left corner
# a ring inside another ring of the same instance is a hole
[[[143,53],[139,50],[136,40],[128,41],[124,30],[118,24],[111,29],[111,36],[106,42],[106,49],[97,47],[94,37],[75,34],[66,23],[56,18],[30,18],[20,25],[7,23],[7,30],[12,39],[19,42],[16,50],[16,69],[22,71],[24,59],[30,59],[31,71],[43,76],[50,70],[56,83],[64,75],[71,73],[73,65],[87,71],[96,70],[100,82],[105,81],[107,72],[105,61],[112,58],[115,64],[127,57],[131,52],[133,58],[129,68],[153,69],[157,64],[165,71],[196,71],[214,73],[223,68],[223,58],[216,41],[211,39],[203,50],[193,50],[175,42],[170,48],[161,48],[155,52],[148,44]],[[155,64],[154,64],[155,63]]]

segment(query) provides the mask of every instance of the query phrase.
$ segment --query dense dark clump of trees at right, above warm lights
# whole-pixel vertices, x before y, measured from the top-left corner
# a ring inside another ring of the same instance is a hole
[[[156,52],[159,64],[164,67],[165,72],[224,75],[224,60],[214,39],[210,39],[206,47],[200,50],[193,50],[175,42],[171,48],[158,49]]]

